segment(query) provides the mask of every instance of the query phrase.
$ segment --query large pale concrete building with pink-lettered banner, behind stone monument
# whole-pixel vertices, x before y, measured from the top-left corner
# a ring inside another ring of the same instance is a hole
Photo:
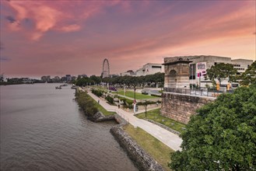
[[[205,79],[204,75],[206,70],[218,63],[232,64],[234,68],[237,68],[237,72],[241,74],[247,70],[248,66],[253,63],[253,60],[247,59],[234,59],[219,56],[180,56],[164,58],[164,63],[170,63],[178,60],[188,60],[189,63],[189,82],[191,85],[205,87],[206,85],[212,86],[212,81]],[[217,81],[217,80],[216,80]],[[228,80],[221,82],[222,86],[226,86]],[[238,83],[233,83],[232,86],[238,86]]]

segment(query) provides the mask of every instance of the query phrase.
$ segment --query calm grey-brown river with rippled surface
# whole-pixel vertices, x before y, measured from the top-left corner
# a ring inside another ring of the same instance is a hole
[[[110,134],[116,123],[86,120],[75,90],[58,85],[0,86],[1,170],[138,170]]]

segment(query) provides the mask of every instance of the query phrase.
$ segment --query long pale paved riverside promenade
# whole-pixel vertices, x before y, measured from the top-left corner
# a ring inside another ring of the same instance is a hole
[[[99,100],[99,97],[95,96],[92,92],[88,91],[88,94],[89,94],[89,96],[93,97],[93,99],[95,99],[96,102]],[[117,106],[111,106],[103,99],[100,99],[100,105],[103,106],[103,108],[105,108],[107,111],[116,112],[118,115],[123,117],[134,127],[142,128],[144,131],[153,135],[153,137],[162,141],[163,144],[174,149],[175,151],[181,150],[180,145],[181,145],[182,139],[177,134],[167,131],[167,130],[163,129],[162,127],[160,127],[156,124],[153,124],[149,121],[139,119],[138,117],[133,116],[133,113],[129,113],[125,110],[118,109]]]

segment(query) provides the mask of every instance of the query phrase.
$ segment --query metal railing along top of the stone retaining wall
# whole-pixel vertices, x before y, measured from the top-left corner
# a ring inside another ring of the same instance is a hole
[[[210,97],[216,97],[223,93],[217,90],[209,91],[208,89],[175,89],[175,88],[169,88],[169,87],[163,88],[163,92],[175,92],[180,94],[188,94],[188,95],[194,95],[194,96],[210,96]],[[226,92],[232,93],[233,90],[226,91]]]

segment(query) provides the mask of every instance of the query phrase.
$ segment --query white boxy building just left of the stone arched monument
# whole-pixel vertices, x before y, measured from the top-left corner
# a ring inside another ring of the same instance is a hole
[[[139,68],[135,72],[135,76],[153,75],[157,72],[164,72],[164,66],[162,64],[148,63]]]

